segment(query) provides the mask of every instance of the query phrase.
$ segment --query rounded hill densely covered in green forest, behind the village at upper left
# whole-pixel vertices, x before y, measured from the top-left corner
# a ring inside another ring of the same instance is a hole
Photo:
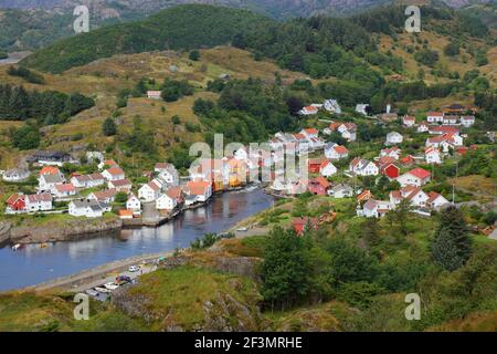
[[[117,53],[215,46],[271,21],[246,10],[179,6],[142,21],[109,25],[56,42],[27,58],[23,64],[60,73]]]

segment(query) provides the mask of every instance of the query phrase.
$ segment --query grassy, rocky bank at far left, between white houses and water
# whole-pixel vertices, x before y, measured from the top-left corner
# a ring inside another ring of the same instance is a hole
[[[64,222],[45,222],[43,226],[30,225],[6,226],[0,233],[0,242],[43,243],[73,241],[87,237],[98,237],[102,233],[118,232],[123,227],[120,219],[74,219]]]

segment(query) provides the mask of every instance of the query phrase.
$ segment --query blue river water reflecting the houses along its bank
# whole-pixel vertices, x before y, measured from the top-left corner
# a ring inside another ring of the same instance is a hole
[[[228,230],[240,220],[271,207],[261,189],[216,195],[201,208],[187,210],[159,228],[123,230],[118,235],[70,242],[30,244],[19,251],[0,249],[0,291],[33,285],[145,253],[186,248],[208,232]]]

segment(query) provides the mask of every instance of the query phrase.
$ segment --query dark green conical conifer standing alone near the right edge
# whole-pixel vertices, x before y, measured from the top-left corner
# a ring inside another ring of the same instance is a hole
[[[446,270],[454,271],[464,266],[472,256],[472,241],[462,212],[448,207],[441,216],[435,238],[432,242],[432,257]]]

